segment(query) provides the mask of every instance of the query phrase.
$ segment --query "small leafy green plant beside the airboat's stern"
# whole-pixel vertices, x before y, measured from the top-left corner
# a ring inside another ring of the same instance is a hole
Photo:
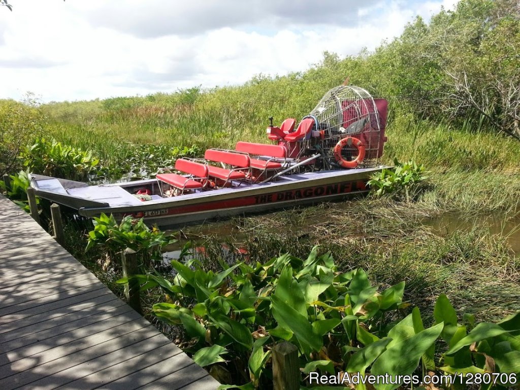
[[[410,199],[410,189],[421,183],[425,176],[424,166],[417,165],[413,160],[400,163],[394,161],[393,168],[384,168],[381,172],[376,172],[368,181],[371,193],[375,196],[385,194],[399,195],[402,191],[406,194],[406,199]]]

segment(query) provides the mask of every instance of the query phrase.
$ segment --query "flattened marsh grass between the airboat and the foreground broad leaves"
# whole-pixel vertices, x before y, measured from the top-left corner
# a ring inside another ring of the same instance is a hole
[[[223,244],[246,249],[250,262],[286,252],[303,256],[319,244],[342,270],[363,267],[383,287],[405,280],[406,299],[420,308],[446,293],[461,316],[496,320],[518,310],[520,263],[507,238],[485,224],[439,231],[425,223],[435,215],[420,204],[367,198],[236,217],[211,228],[221,226],[221,236],[199,228],[184,235],[206,248],[204,259],[216,269]]]

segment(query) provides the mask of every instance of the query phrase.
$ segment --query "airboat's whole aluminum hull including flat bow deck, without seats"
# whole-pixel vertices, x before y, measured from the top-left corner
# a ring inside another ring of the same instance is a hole
[[[242,184],[146,202],[136,200],[127,190],[139,186],[153,187],[157,185],[155,179],[86,187],[74,181],[32,175],[31,186],[37,196],[71,207],[82,216],[93,217],[105,213],[121,219],[132,215],[144,218],[148,225],[172,228],[207,219],[353,197],[368,192],[366,183],[370,175],[383,168],[285,175],[264,184]],[[59,181],[64,188],[59,188],[57,181],[52,180]],[[75,187],[66,189],[71,185]]]

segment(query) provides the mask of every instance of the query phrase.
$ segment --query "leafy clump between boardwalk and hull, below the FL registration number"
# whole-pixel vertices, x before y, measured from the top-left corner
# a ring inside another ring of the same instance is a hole
[[[159,229],[148,228],[142,218],[133,219],[126,216],[118,224],[113,215],[101,213],[99,218],[94,217],[94,225],[94,230],[88,232],[85,250],[88,251],[95,245],[100,246],[116,268],[116,264],[120,263],[116,256],[126,248],[139,253],[145,265],[152,265],[162,261],[164,246],[175,242],[171,236],[166,236]]]

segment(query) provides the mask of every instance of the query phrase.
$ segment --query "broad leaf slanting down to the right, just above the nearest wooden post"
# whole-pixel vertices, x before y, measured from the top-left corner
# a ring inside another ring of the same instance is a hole
[[[319,351],[323,346],[321,335],[313,331],[306,316],[298,313],[295,309],[283,302],[278,296],[271,296],[272,315],[281,323],[287,324],[289,330],[294,333],[298,342],[306,352]]]

